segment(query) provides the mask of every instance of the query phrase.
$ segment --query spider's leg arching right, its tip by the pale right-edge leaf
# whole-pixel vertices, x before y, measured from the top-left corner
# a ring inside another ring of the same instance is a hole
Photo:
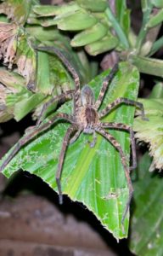
[[[132,101],[132,100],[130,100],[130,99],[122,98],[122,97],[116,99],[114,102],[110,103],[106,108],[104,108],[103,110],[101,110],[101,111],[99,112],[99,118],[100,118],[100,119],[103,118],[106,114],[110,113],[110,111],[111,111],[113,108],[115,108],[115,107],[121,105],[122,103],[125,103],[125,104],[127,104],[127,105],[132,105],[132,106],[135,106],[135,107],[140,108],[140,109],[141,109],[141,112],[142,112],[142,114],[141,114],[141,115],[142,115],[142,119],[148,120],[148,119],[145,118],[145,113],[144,113],[144,109],[143,109],[143,104],[142,104],[142,103],[140,103],[140,102],[135,102],[135,101]]]

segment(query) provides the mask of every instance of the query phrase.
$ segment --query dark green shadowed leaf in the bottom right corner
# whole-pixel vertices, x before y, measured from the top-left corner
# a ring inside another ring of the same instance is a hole
[[[130,249],[138,256],[162,256],[163,178],[149,172],[151,159],[144,154],[134,183],[134,212],[131,222]]]

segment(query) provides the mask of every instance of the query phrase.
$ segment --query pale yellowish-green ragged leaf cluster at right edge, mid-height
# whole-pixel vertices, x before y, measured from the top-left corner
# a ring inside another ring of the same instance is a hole
[[[145,113],[149,122],[142,122],[138,117],[134,121],[133,130],[136,131],[135,137],[138,141],[149,143],[149,154],[153,157],[150,171],[155,168],[163,168],[163,103],[162,103],[162,84],[156,84],[151,96],[156,98],[140,99],[143,103]]]

